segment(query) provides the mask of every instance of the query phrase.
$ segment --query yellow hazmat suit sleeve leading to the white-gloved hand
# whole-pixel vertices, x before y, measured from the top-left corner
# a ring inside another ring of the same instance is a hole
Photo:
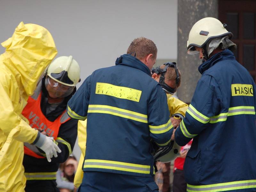
[[[21,142],[33,143],[36,140],[38,131],[31,129],[29,124],[23,120],[12,105],[9,87],[12,86],[11,80],[4,79],[4,75],[0,77],[0,129],[7,137],[12,131],[12,138]]]

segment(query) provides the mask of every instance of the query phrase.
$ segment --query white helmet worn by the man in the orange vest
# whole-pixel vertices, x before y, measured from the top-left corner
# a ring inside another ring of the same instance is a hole
[[[80,81],[80,67],[72,56],[61,56],[50,64],[46,75],[61,84],[76,86]]]

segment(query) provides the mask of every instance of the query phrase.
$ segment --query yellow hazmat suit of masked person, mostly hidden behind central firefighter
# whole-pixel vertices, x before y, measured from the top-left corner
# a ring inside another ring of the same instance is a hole
[[[170,111],[170,117],[172,116],[180,116],[180,118],[185,117],[186,110],[188,109],[188,105],[181,100],[172,97],[172,94],[166,94],[167,95],[167,103],[168,103],[168,108]],[[78,121],[78,130],[77,130],[77,136],[78,136],[78,145],[82,151],[82,154],[79,159],[75,179],[74,179],[74,185],[75,187],[79,187],[82,183],[83,180],[83,170],[82,166],[84,163],[84,156],[85,156],[85,149],[86,149],[86,122],[85,121]]]

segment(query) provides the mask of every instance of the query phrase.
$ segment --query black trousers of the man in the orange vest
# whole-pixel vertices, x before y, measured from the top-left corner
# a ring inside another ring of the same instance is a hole
[[[60,192],[55,180],[27,180],[26,192]]]

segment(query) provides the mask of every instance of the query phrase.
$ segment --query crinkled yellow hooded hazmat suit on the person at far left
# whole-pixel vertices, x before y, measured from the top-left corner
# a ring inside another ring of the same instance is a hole
[[[32,143],[38,131],[20,115],[45,69],[57,54],[49,31],[21,22],[2,43],[0,55],[0,191],[24,191],[23,142]]]

